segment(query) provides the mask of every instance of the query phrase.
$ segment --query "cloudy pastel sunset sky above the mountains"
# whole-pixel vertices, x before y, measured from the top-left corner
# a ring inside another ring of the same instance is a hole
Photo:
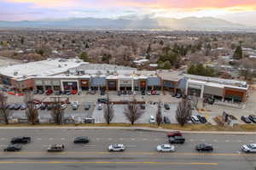
[[[256,24],[256,0],[0,0],[0,20],[216,17]]]

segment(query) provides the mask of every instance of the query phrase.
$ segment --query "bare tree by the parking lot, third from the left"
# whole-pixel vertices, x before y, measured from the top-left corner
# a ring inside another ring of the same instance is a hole
[[[55,97],[53,103],[53,108],[51,110],[51,116],[56,124],[62,124],[64,117],[64,109],[61,107],[61,98]]]

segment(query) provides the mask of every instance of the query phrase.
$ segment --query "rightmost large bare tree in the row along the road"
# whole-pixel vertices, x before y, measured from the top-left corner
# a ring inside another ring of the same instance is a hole
[[[177,122],[183,126],[188,122],[189,117],[191,116],[191,105],[188,99],[183,99],[177,105],[176,119]]]

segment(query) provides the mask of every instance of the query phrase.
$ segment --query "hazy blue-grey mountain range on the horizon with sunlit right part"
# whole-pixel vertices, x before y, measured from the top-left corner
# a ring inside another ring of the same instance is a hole
[[[30,28],[97,28],[97,29],[133,29],[133,30],[201,30],[201,29],[241,29],[245,26],[227,20],[212,17],[172,18],[143,18],[143,19],[99,19],[99,18],[72,18],[65,20],[22,20],[0,21],[0,27],[30,27]]]

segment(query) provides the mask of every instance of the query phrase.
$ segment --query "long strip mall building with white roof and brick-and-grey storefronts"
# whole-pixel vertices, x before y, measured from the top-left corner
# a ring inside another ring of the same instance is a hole
[[[201,98],[246,101],[247,83],[185,75],[181,71],[137,71],[119,65],[90,64],[80,59],[47,59],[0,68],[1,82],[23,92],[47,90],[161,90],[197,94]]]

